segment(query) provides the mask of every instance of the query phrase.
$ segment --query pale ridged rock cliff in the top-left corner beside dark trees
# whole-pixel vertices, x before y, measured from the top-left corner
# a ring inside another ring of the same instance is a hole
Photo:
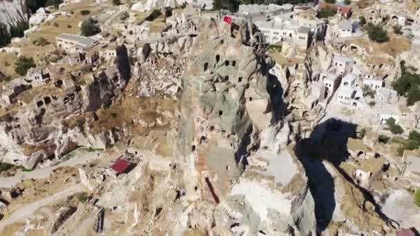
[[[25,0],[1,0],[0,23],[15,26],[19,21],[28,21],[28,8]]]

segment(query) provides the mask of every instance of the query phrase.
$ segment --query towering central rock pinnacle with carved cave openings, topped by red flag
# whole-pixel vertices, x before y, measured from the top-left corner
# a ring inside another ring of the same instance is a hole
[[[236,27],[206,21],[199,28],[208,32],[191,49],[180,101],[178,146],[188,167],[187,197],[218,204],[218,232],[314,233],[314,199],[287,138],[279,137],[289,135],[288,126],[274,109],[281,94],[269,79],[269,60],[256,50],[258,34],[246,22]],[[278,176],[282,168],[285,176]],[[198,185],[207,194],[197,195]]]

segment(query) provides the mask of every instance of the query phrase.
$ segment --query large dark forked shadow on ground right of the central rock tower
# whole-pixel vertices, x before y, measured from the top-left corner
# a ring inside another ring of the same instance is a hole
[[[356,138],[356,128],[356,124],[328,119],[318,124],[309,137],[300,137],[300,142],[296,145],[295,153],[309,179],[308,186],[314,197],[316,221],[321,232],[330,224],[336,208],[334,179],[323,165],[323,160],[334,165],[352,186],[361,190],[366,201],[374,205],[376,213],[388,225],[395,223],[381,212],[381,206],[376,204],[369,191],[356,184],[353,178],[340,168],[340,164],[350,156],[347,151],[347,140]]]

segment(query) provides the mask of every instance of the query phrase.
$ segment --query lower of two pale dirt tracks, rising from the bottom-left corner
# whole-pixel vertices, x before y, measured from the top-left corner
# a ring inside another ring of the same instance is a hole
[[[0,230],[3,230],[3,228],[8,226],[9,224],[13,224],[15,222],[23,220],[26,217],[32,215],[33,213],[35,213],[35,211],[37,211],[42,206],[52,204],[54,201],[57,201],[58,199],[68,197],[78,192],[82,192],[82,190],[83,190],[82,186],[80,184],[77,184],[75,186],[71,186],[69,188],[66,188],[65,190],[62,190],[61,192],[56,193],[55,195],[46,197],[39,201],[32,202],[31,204],[27,204],[26,206],[23,206],[22,208],[19,208],[14,213],[12,213],[12,215],[10,215],[10,217],[8,217],[7,219],[2,220],[0,222]]]

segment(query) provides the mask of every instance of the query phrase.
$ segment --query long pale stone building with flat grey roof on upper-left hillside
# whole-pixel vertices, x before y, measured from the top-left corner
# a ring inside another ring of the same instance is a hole
[[[59,34],[56,37],[57,47],[66,52],[83,52],[84,50],[95,46],[97,41],[90,37],[83,37],[79,35]]]

